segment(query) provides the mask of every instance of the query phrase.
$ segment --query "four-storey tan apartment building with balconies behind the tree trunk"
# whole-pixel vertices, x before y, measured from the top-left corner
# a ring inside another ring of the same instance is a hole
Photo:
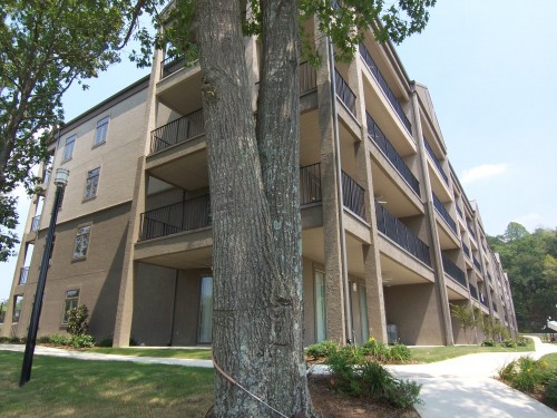
[[[261,46],[246,43],[255,106]],[[328,62],[328,40],[315,43]],[[516,336],[508,278],[449,163],[427,87],[371,35],[350,64],[300,69],[305,343],[468,342],[450,304],[477,308]],[[51,145],[48,168],[70,175],[39,336],[65,332],[67,309],[86,304],[97,340],[211,343],[201,82],[198,64],[156,51],[150,77],[70,121]],[[53,205],[49,169],[27,220],[4,336],[27,333]]]

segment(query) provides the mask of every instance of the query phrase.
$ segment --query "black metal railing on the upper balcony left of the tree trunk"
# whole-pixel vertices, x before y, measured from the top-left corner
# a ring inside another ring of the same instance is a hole
[[[150,133],[150,153],[169,148],[178,143],[192,139],[205,132],[203,109],[163,125]]]

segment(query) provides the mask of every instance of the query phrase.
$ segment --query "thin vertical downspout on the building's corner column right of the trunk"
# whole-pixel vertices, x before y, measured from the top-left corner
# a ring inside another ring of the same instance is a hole
[[[329,70],[331,74],[331,106],[333,111],[333,135],[334,135],[334,154],[335,154],[335,168],[336,168],[336,188],[339,195],[339,232],[340,232],[340,244],[341,244],[341,262],[342,262],[342,279],[344,284],[344,322],[345,322],[345,334],[346,343],[352,343],[352,309],[350,303],[350,283],[348,278],[348,263],[346,263],[346,235],[344,233],[344,200],[342,191],[342,165],[341,165],[341,145],[339,136],[339,115],[336,110],[336,81],[334,72],[334,49],[331,38],[328,38],[329,45]]]

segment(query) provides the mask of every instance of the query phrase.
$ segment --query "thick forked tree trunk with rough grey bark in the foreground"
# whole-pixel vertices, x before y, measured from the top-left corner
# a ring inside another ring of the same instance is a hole
[[[262,401],[217,372],[214,416],[281,416],[272,408],[286,417],[310,415],[302,358],[297,9],[293,1],[262,3],[267,37],[257,138],[240,3],[196,3],[213,211],[213,347],[223,371]],[[281,39],[270,45],[268,37]],[[266,98],[268,88],[280,88],[275,100]]]

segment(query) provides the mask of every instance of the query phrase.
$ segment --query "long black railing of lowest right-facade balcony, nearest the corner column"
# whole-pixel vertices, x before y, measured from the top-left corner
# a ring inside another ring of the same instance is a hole
[[[375,216],[379,232],[390,237],[421,262],[431,266],[429,246],[379,202],[375,202]]]

